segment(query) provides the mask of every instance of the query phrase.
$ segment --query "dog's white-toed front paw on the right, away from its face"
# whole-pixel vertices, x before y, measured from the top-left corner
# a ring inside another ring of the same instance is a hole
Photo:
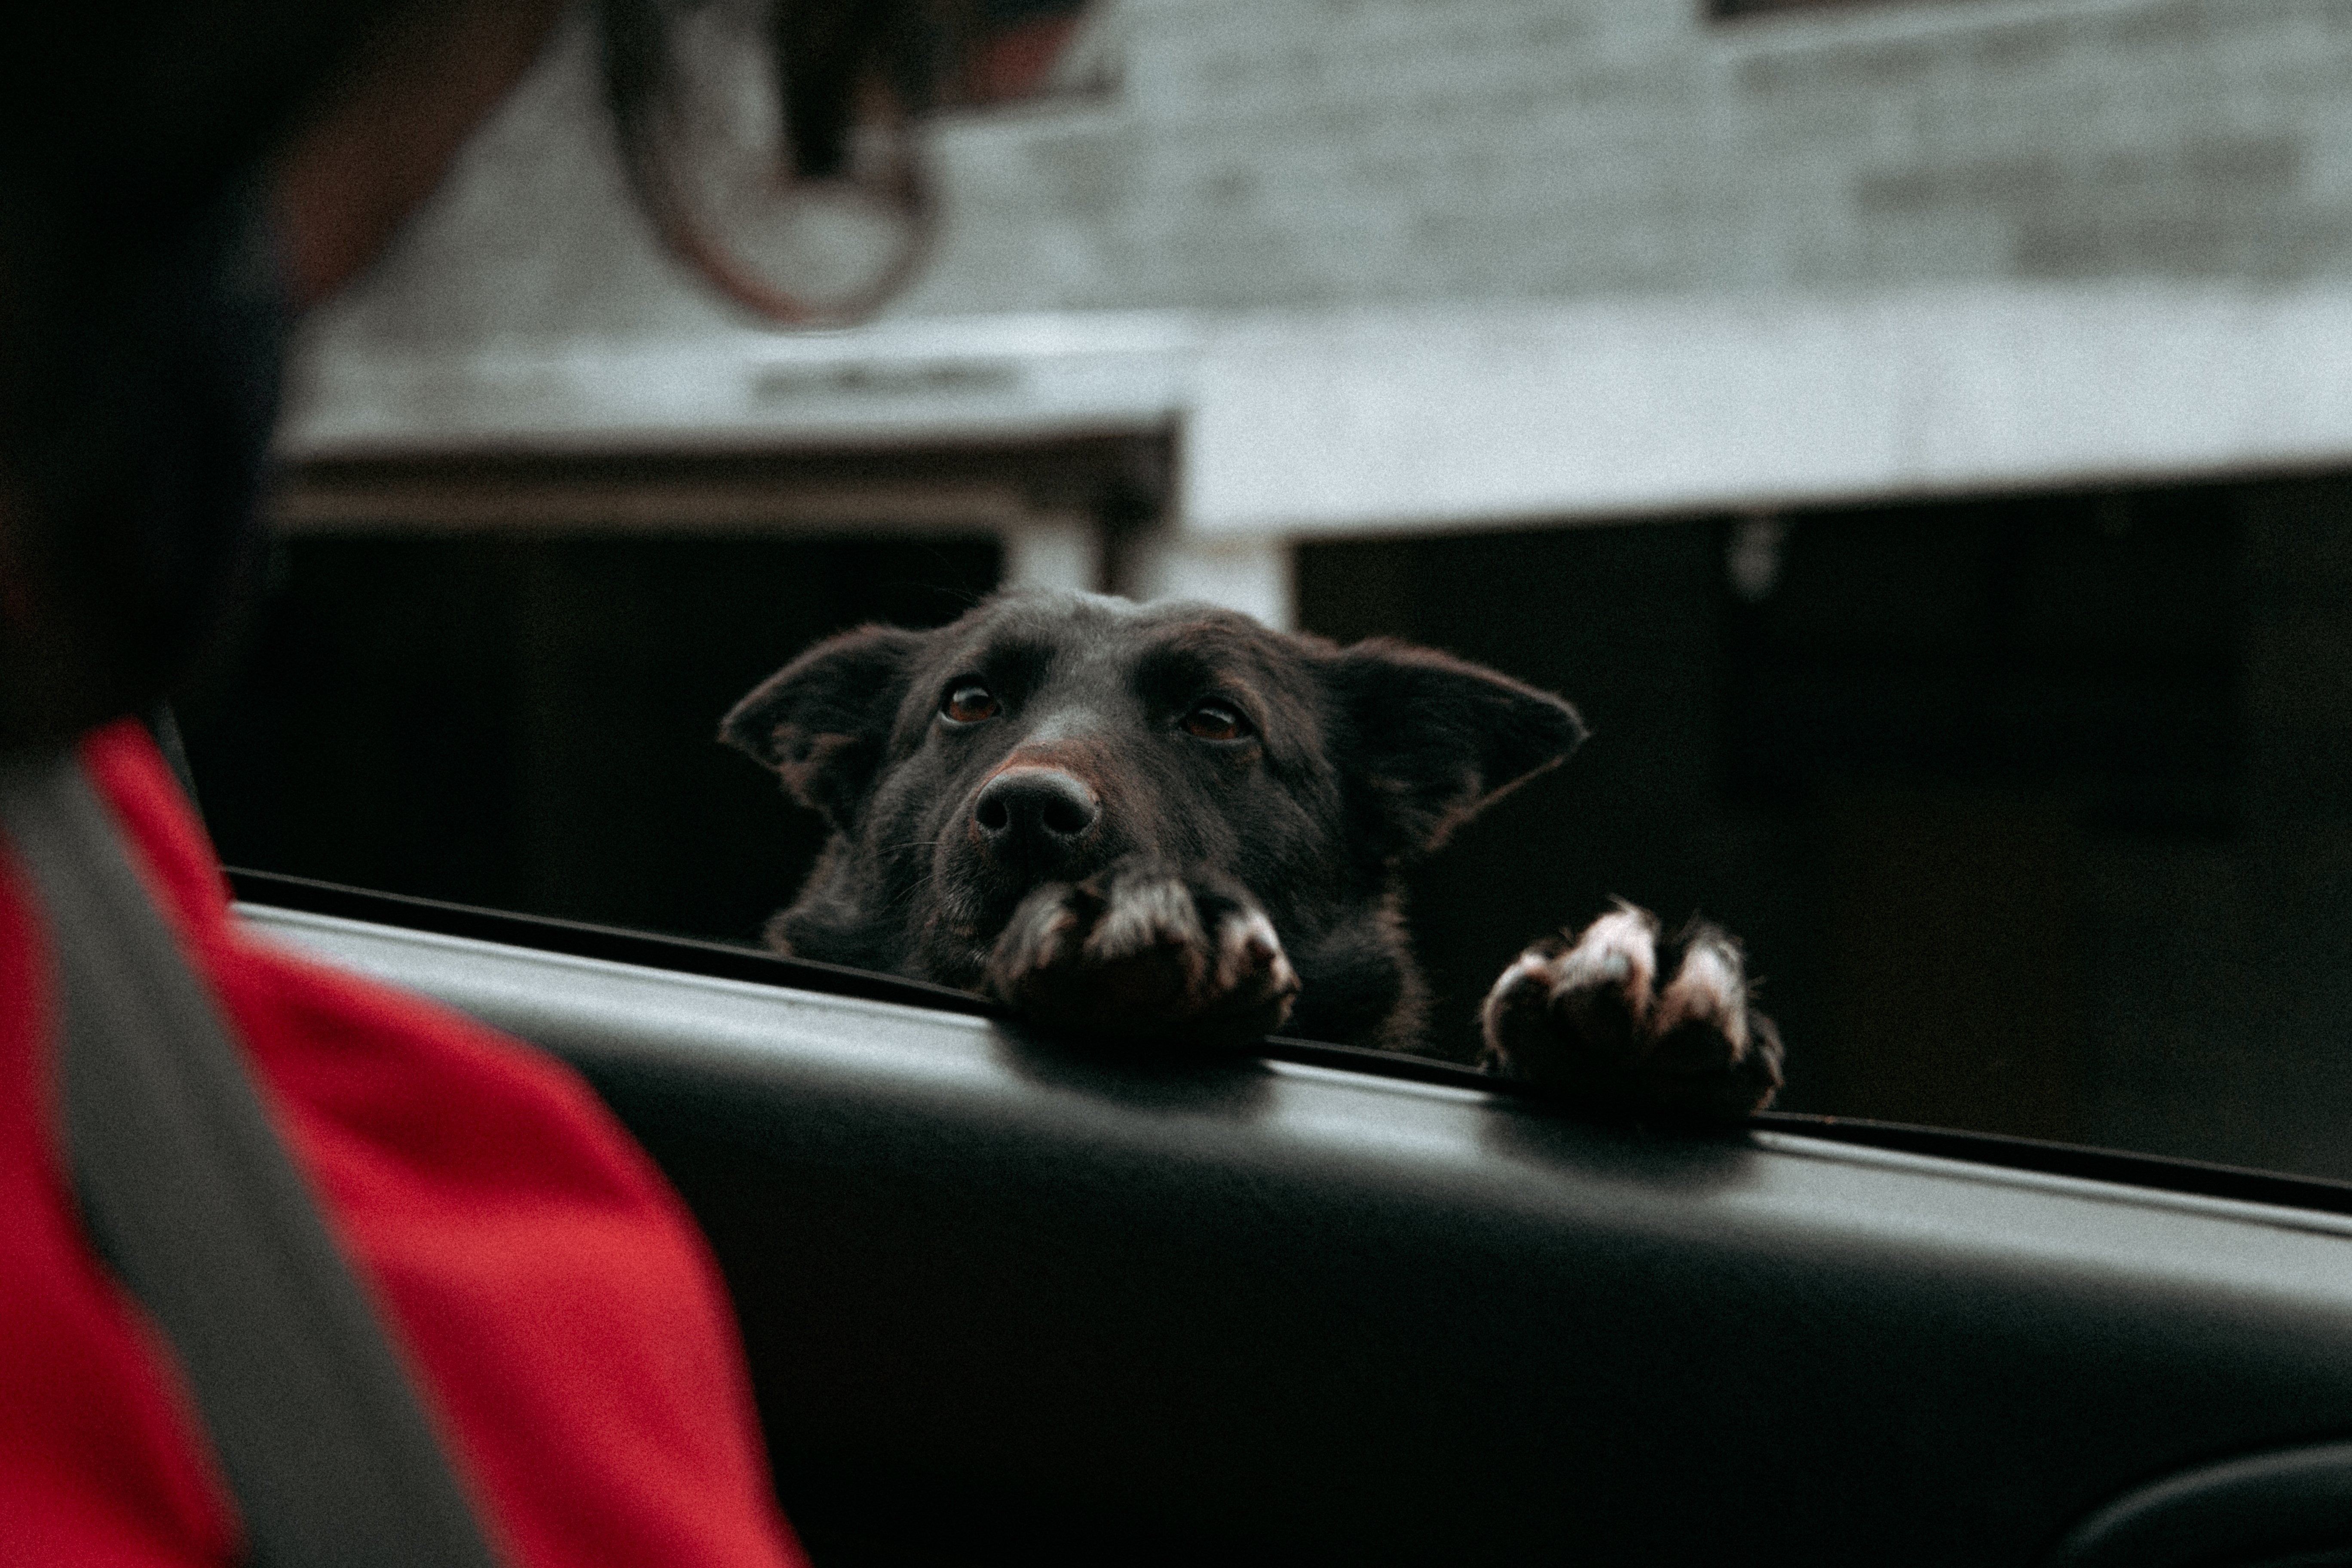
[[[1658,922],[1632,905],[1526,950],[1486,994],[1486,1065],[1632,1114],[1764,1110],[1780,1091],[1780,1032],[1748,1006],[1738,943],[1693,924],[1677,945],[1663,987]]]

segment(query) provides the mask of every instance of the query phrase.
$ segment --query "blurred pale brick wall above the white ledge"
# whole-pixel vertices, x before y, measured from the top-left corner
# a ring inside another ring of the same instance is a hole
[[[2352,5],[1115,0],[1101,99],[938,132],[891,310],[2352,277]],[[628,209],[579,31],[341,313],[348,339],[729,320]]]

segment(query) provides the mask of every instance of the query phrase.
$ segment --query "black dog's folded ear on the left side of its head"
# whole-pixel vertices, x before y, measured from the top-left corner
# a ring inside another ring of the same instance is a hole
[[[720,719],[720,741],[776,769],[793,799],[849,830],[889,750],[924,639],[863,625],[818,642],[736,703]]]

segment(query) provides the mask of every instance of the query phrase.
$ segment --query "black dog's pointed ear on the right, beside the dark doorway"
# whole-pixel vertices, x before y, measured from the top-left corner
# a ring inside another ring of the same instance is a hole
[[[1359,832],[1392,865],[1435,851],[1585,738],[1557,696],[1402,642],[1343,649],[1324,679],[1343,722],[1341,766]]]

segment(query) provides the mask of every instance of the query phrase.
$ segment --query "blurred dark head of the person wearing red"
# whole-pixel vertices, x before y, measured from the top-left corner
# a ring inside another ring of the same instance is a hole
[[[546,0],[38,7],[0,40],[0,750],[153,703],[254,552],[285,331]]]

